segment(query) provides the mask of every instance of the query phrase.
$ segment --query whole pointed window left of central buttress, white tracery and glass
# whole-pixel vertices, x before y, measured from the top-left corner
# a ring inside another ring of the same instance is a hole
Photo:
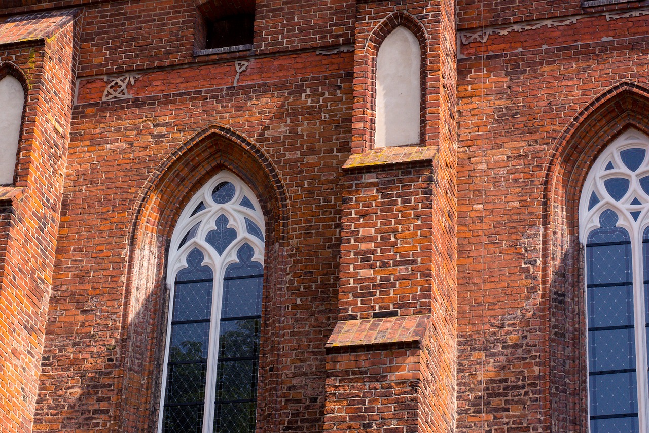
[[[254,432],[264,236],[260,203],[227,171],[178,218],[159,432]]]

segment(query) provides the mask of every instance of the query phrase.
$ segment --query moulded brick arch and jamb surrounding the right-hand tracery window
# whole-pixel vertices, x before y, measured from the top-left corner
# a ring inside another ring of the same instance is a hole
[[[550,326],[550,412],[557,431],[586,431],[587,371],[578,206],[588,170],[624,131],[649,135],[649,89],[623,82],[594,98],[559,136],[545,170],[542,281]],[[556,407],[556,410],[552,410]]]

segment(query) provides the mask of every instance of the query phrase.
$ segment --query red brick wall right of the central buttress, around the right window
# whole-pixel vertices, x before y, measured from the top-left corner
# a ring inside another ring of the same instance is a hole
[[[587,424],[575,207],[596,152],[643,124],[646,26],[602,12],[459,42],[458,432]]]

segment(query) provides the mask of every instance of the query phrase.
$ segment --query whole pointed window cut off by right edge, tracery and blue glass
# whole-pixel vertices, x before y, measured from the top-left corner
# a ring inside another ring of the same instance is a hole
[[[585,244],[591,433],[649,426],[649,137],[614,140],[586,178]]]

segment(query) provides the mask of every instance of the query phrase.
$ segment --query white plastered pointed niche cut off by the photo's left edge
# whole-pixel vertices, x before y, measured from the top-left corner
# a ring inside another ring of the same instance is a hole
[[[11,75],[0,80],[0,185],[14,183],[25,90]]]

